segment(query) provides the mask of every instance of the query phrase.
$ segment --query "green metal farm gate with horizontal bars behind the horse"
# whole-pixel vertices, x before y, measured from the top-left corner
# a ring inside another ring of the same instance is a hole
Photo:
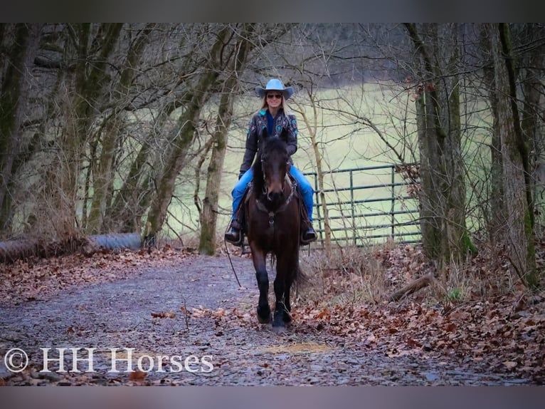
[[[332,243],[357,247],[394,242],[420,242],[418,182],[403,177],[400,170],[411,165],[380,165],[324,172],[324,195]],[[305,175],[314,180],[313,248],[325,239],[324,212],[316,172]],[[405,175],[406,176],[406,175]],[[411,192],[413,193],[411,195]]]

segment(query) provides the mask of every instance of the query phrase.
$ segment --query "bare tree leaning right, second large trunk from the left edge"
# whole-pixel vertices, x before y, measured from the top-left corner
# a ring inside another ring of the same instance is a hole
[[[66,26],[68,41],[65,46],[75,61],[73,71],[66,76],[63,110],[66,118],[60,138],[61,155],[53,163],[54,184],[51,192],[56,207],[61,209],[57,231],[70,235],[75,229],[76,204],[81,195],[80,175],[92,135],[95,120],[100,114],[104,95],[107,95],[108,60],[120,40],[122,24],[75,24]],[[99,125],[100,129],[100,125]],[[78,226],[83,229],[84,226]]]

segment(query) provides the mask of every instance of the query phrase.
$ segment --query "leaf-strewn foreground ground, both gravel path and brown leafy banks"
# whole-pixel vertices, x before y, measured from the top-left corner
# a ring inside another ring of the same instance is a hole
[[[392,288],[429,269],[414,247],[379,251],[374,257],[388,266],[385,276]],[[35,360],[22,373],[0,368],[0,384],[544,383],[543,293],[521,289],[456,302],[432,302],[419,294],[399,302],[346,301],[349,281],[354,284],[359,279],[357,271],[332,271],[322,277],[323,296],[296,299],[293,325],[277,334],[255,318],[258,291],[250,260],[237,257],[234,262],[241,288],[229,278],[226,257],[199,257],[174,249],[102,252],[1,266],[3,351],[110,342],[140,351],[134,357],[142,356],[142,351],[181,350],[182,355],[208,353],[215,358],[210,374],[134,371],[112,375],[106,371],[106,362],[95,373],[69,371],[49,378],[40,375],[41,363]],[[475,268],[488,267],[482,262]],[[127,294],[133,298],[127,299]],[[79,311],[85,318],[75,322],[70,311]],[[14,318],[17,314],[23,316],[19,321]],[[102,314],[115,318],[106,323],[100,320]],[[44,319],[55,321],[46,325]],[[40,328],[43,331],[37,333]]]

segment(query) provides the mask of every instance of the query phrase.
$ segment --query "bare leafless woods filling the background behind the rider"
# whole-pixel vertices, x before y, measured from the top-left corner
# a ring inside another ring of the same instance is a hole
[[[372,133],[419,164],[407,177],[439,271],[486,242],[539,283],[543,24],[0,24],[0,56],[3,240],[176,235],[173,207],[191,207],[184,229],[213,254],[233,135],[280,77],[320,190],[332,140]]]

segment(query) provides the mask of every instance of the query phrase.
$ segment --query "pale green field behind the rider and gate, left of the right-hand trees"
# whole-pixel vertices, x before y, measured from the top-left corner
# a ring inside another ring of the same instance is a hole
[[[365,84],[364,88],[351,87],[341,90],[322,90],[317,94],[319,109],[317,117],[313,118],[312,107],[308,100],[302,96],[295,95],[290,108],[297,115],[299,127],[299,148],[293,160],[295,165],[303,172],[314,172],[316,169],[316,158],[312,150],[312,140],[309,137],[309,129],[304,115],[309,123],[316,127],[316,141],[322,155],[324,171],[343,170],[359,167],[374,167],[377,165],[390,165],[398,163],[396,155],[388,149],[386,143],[379,138],[376,130],[364,125],[361,118],[370,120],[376,128],[388,138],[388,143],[395,146],[399,152],[406,155],[406,161],[414,160],[409,153],[407,146],[413,145],[411,127],[403,120],[406,109],[406,99],[396,98],[398,90],[379,86],[378,84]],[[228,152],[226,154],[223,175],[221,179],[220,192],[220,214],[218,216],[218,234],[223,234],[231,216],[231,190],[236,183],[240,162],[243,157],[245,131],[248,120],[259,107],[258,98],[243,98],[237,104],[236,120],[233,130],[229,134]],[[412,105],[411,105],[412,106]],[[298,111],[298,112],[297,112]],[[400,118],[400,119],[396,119]],[[405,144],[405,145],[403,145]],[[204,169],[204,168],[203,168]],[[190,180],[191,172],[186,180]],[[334,173],[327,175],[324,180],[324,190],[337,190],[327,193],[327,202],[347,201],[371,201],[378,198],[403,197],[403,188],[389,187],[392,182],[392,172],[389,169],[364,170],[352,172],[352,180],[349,173]],[[309,176],[312,185],[314,177]],[[400,182],[401,176],[394,175],[394,181]],[[349,187],[374,188],[360,190],[342,191],[342,188]],[[204,181],[201,182],[201,197],[204,195]],[[198,228],[198,216],[193,204],[194,185],[184,184],[183,189],[177,192],[176,200],[173,200],[169,211],[174,217],[169,219],[169,226],[176,232],[194,234],[193,229]],[[366,237],[375,234],[389,234],[391,229],[371,228],[374,225],[390,224],[392,220],[396,223],[410,222],[415,215],[411,214],[389,214],[392,209],[396,212],[403,209],[416,207],[414,200],[396,200],[392,208],[392,200],[384,202],[359,203],[355,207],[351,205],[332,206],[329,205],[329,215],[332,217],[332,228],[336,237],[343,237],[344,232],[337,229],[354,229],[363,242]],[[375,214],[369,217],[356,217],[361,214]],[[314,209],[314,219],[322,212]],[[317,229],[320,228],[319,223]],[[321,225],[323,228],[323,224]],[[407,228],[407,231],[415,231],[416,227]],[[352,234],[352,233],[350,233]],[[172,236],[173,232],[169,232]],[[413,237],[409,237],[411,239]],[[373,239],[374,240],[374,239]]]

